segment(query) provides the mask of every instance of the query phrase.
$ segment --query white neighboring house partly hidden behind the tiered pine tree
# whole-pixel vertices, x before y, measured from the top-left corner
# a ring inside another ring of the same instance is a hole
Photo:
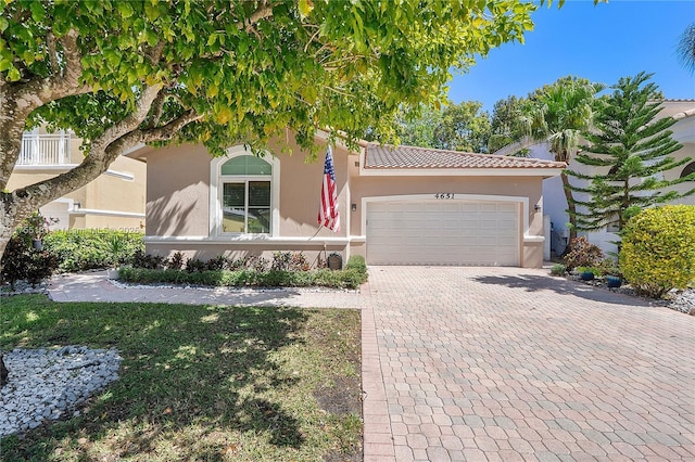
[[[664,108],[659,113],[662,117],[672,116],[678,121],[673,124],[669,130],[673,132],[672,138],[679,141],[683,147],[671,154],[671,157],[675,159],[683,159],[691,157],[691,162],[682,165],[673,170],[664,172],[664,177],[667,180],[674,180],[680,177],[685,177],[688,174],[695,171],[695,100],[667,100],[664,102]],[[553,154],[548,152],[547,144],[538,144],[531,147],[530,157],[547,159],[553,158]],[[579,171],[585,175],[591,172],[590,167],[570,161],[570,170]],[[598,168],[598,167],[594,167]],[[577,178],[570,177],[570,183],[576,185],[586,184]],[[695,188],[695,183],[686,181],[681,183],[674,189],[685,192]],[[574,197],[580,201],[586,201],[589,196],[586,194],[574,192]],[[569,217],[567,215],[567,201],[563,192],[563,183],[559,178],[548,178],[543,181],[543,197],[544,197],[544,210],[543,214],[548,217],[552,223],[551,233],[551,248],[556,255],[561,255],[567,245],[567,238],[569,235],[567,223]],[[674,202],[674,204],[687,204],[695,205],[695,196],[683,197]],[[598,245],[604,252],[614,253],[617,251],[617,246],[612,242],[618,241],[616,234],[617,227],[608,226],[594,232],[580,231],[579,235],[585,235],[593,244]],[[546,255],[546,258],[548,256]]]

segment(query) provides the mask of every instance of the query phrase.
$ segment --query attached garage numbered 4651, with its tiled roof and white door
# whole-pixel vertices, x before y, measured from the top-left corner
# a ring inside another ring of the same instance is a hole
[[[367,264],[543,265],[543,179],[564,163],[367,143],[356,167],[351,251]]]

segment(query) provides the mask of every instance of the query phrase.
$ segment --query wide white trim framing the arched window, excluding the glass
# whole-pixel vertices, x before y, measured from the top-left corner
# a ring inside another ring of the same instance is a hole
[[[229,147],[223,157],[213,158],[210,162],[210,238],[223,238],[226,241],[265,241],[268,236],[276,238],[280,234],[280,159],[266,151],[263,157],[273,169],[270,178],[270,233],[258,234],[232,234],[222,231],[222,184],[223,179],[231,179],[235,176],[222,176],[222,165],[227,161],[241,155],[253,155],[243,144]],[[268,178],[260,176],[261,178]],[[251,176],[236,176],[236,178],[249,179]]]

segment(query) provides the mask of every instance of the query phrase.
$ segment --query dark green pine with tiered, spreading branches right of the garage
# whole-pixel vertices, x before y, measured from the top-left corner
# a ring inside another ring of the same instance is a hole
[[[644,208],[664,204],[695,193],[666,189],[687,180],[695,174],[677,180],[665,180],[662,174],[691,161],[675,161],[669,154],[682,147],[668,130],[675,124],[672,117],[657,118],[662,97],[658,87],[649,82],[652,74],[640,73],[623,77],[611,87],[610,95],[597,100],[595,130],[584,133],[589,145],[574,159],[583,165],[598,167],[596,175],[568,171],[590,181],[585,188],[573,191],[589,193],[585,207],[577,211],[577,228],[596,230],[618,222],[619,230]]]

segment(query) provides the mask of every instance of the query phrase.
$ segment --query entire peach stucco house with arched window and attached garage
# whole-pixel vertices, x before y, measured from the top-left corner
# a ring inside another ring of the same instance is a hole
[[[287,137],[291,140],[292,137]],[[326,139],[317,136],[325,153]],[[280,154],[290,147],[292,155]],[[147,161],[148,253],[210,259],[339,252],[371,265],[541,267],[542,180],[563,163],[363,143],[333,149],[341,229],[317,224],[324,155],[293,141],[265,157],[243,145],[213,158],[202,145],[128,153]],[[274,156],[273,154],[277,154]]]

